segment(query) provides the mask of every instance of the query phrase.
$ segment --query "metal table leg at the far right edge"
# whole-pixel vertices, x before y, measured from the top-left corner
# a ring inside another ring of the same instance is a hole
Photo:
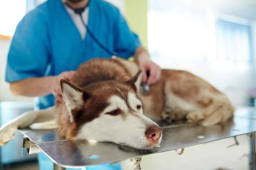
[[[250,153],[249,153],[250,170],[256,170],[256,133],[250,136]]]

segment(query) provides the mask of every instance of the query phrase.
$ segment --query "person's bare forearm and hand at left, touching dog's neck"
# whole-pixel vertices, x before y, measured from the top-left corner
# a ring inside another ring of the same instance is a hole
[[[65,71],[57,76],[31,77],[17,82],[10,82],[10,89],[13,94],[19,96],[45,96],[54,94],[55,98],[61,102],[60,79],[71,79],[75,71]]]

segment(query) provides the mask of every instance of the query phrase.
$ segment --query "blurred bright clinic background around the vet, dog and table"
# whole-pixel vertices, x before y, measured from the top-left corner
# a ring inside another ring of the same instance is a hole
[[[17,23],[45,0],[0,1],[0,123],[32,110],[35,99],[13,96],[4,81],[9,45]],[[236,107],[256,98],[256,0],[108,0],[162,68],[191,71],[229,96]],[[14,5],[15,4],[15,5]],[[11,9],[11,10],[10,10]],[[15,12],[14,12],[15,11]],[[8,17],[6,17],[8,16]],[[38,169],[36,155],[21,157],[22,138],[0,148],[3,169]],[[233,139],[143,157],[145,170],[248,169],[249,145],[226,149]],[[123,162],[126,170],[134,167]]]

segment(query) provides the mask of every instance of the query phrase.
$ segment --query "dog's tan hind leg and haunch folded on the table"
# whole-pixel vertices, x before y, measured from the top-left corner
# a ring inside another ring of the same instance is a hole
[[[188,122],[209,126],[233,116],[234,108],[227,96],[203,79],[186,71],[169,71],[166,76],[166,101],[177,111],[187,111]]]

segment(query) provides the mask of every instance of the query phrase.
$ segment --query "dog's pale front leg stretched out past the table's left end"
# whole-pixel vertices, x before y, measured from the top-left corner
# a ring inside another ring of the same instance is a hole
[[[11,141],[18,128],[27,127],[33,123],[47,122],[55,119],[55,107],[27,111],[15,119],[6,122],[0,127],[0,145]]]

